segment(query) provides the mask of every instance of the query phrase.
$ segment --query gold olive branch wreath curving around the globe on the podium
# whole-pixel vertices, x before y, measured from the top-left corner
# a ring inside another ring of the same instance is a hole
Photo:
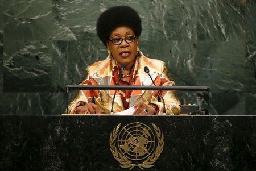
[[[133,164],[129,159],[127,159],[126,156],[123,156],[120,152],[118,152],[116,147],[116,139],[118,137],[118,131],[121,127],[121,123],[119,123],[118,126],[114,127],[114,130],[111,132],[109,139],[110,151],[112,152],[115,160],[117,160],[121,164],[120,166],[122,168],[130,168],[131,170],[135,166],[138,166],[143,170],[144,168],[151,168],[152,166],[154,166],[155,161],[158,160],[164,147],[164,135],[163,132],[160,131],[158,126],[156,126],[154,123],[151,124],[154,127],[154,131],[158,139],[158,145],[152,155],[148,156],[147,159],[144,160],[141,164]]]

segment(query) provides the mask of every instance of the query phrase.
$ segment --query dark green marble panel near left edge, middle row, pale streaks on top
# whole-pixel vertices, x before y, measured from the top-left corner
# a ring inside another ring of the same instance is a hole
[[[5,44],[4,54],[5,92],[51,90],[50,41],[12,41]]]

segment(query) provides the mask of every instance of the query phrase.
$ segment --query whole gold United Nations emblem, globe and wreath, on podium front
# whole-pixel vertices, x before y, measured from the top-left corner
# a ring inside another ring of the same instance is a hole
[[[121,123],[110,134],[110,151],[122,168],[142,170],[151,168],[158,160],[164,147],[164,135],[159,127],[151,123],[154,131],[146,124],[134,122],[121,128]],[[155,136],[156,135],[156,136]]]

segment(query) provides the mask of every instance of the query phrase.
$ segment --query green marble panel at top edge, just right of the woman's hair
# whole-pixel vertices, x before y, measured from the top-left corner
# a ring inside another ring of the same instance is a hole
[[[149,40],[197,40],[196,9],[194,0],[152,1],[147,16]]]

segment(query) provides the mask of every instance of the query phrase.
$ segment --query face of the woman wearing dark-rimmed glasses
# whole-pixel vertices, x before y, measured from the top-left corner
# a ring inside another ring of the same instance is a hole
[[[109,39],[116,40],[117,38],[125,38],[135,36],[134,31],[129,27],[118,27],[112,31],[109,36]],[[128,39],[127,41],[129,41]],[[122,64],[126,66],[133,66],[137,55],[137,45],[138,45],[138,37],[135,38],[133,42],[127,43],[125,40],[122,40],[121,44],[114,44],[112,41],[108,40],[107,46],[110,49],[110,52],[114,59],[117,61],[119,67]]]

